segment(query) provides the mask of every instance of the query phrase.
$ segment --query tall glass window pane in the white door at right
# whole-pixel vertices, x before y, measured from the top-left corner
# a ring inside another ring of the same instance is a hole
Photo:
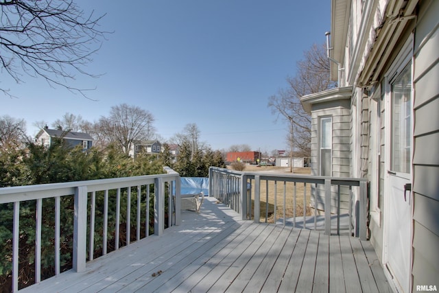
[[[410,174],[412,148],[412,65],[392,82],[392,154],[391,169]]]

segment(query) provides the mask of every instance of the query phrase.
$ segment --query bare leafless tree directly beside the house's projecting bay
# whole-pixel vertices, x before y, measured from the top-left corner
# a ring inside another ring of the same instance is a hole
[[[331,89],[337,84],[330,79],[330,65],[326,47],[313,45],[304,53],[304,59],[297,62],[296,75],[287,78],[289,87],[278,91],[268,100],[268,107],[278,117],[289,123],[287,142],[291,153],[300,156],[311,154],[311,117],[303,109],[300,97]]]

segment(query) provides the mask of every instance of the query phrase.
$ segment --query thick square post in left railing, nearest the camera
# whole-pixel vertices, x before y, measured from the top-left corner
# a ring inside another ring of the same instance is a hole
[[[73,218],[73,270],[84,272],[87,243],[87,187],[75,189],[75,215]]]

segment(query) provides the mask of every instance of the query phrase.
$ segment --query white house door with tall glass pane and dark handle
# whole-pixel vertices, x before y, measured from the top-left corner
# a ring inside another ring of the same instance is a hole
[[[390,143],[385,263],[401,292],[410,292],[412,247],[412,63],[390,81]]]

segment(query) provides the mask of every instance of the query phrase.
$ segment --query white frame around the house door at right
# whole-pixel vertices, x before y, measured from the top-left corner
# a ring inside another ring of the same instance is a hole
[[[392,132],[392,110],[391,110],[391,106],[392,106],[392,98],[391,98],[391,83],[394,81],[394,79],[401,73],[402,69],[404,69],[410,62],[412,65],[412,119],[411,119],[411,128],[412,128],[412,137],[411,137],[411,153],[410,153],[410,166],[411,166],[411,172],[410,172],[410,178],[406,178],[408,180],[410,180],[410,182],[413,182],[413,165],[412,165],[412,159],[413,159],[413,150],[414,150],[414,145],[413,145],[413,133],[414,133],[414,83],[413,83],[413,76],[414,76],[414,56],[413,56],[413,46],[414,46],[414,35],[412,34],[409,38],[407,38],[405,44],[403,45],[403,47],[401,48],[401,51],[399,52],[398,56],[395,58],[394,62],[392,62],[392,65],[390,67],[390,69],[388,69],[388,71],[385,73],[385,180],[384,180],[384,191],[385,191],[385,195],[389,195],[391,194],[390,192],[390,175],[388,174],[388,170],[391,169],[390,167],[390,163],[391,163],[391,132]],[[412,198],[412,192],[407,192],[407,196],[409,197],[408,200],[410,200],[410,215],[411,218],[413,218],[413,198]],[[390,272],[389,268],[387,268],[386,263],[388,263],[388,251],[392,248],[388,247],[389,244],[389,237],[390,237],[390,197],[389,196],[384,196],[383,198],[383,265],[384,265],[384,272],[386,274],[386,277],[388,277],[388,279],[392,279],[392,274],[393,272]],[[407,253],[410,253],[409,255],[409,259],[410,259],[410,273],[407,277],[407,279],[409,279],[410,281],[410,288],[412,288],[412,249],[410,249],[412,247],[412,239],[413,239],[413,221],[410,221],[410,226],[408,226],[407,228],[410,228],[410,239],[411,239],[411,243],[407,244]],[[410,247],[408,247],[410,246]],[[397,285],[396,283],[394,283],[394,285],[396,286],[396,288],[398,288],[398,290],[401,290],[401,288],[399,288],[399,285]]]

